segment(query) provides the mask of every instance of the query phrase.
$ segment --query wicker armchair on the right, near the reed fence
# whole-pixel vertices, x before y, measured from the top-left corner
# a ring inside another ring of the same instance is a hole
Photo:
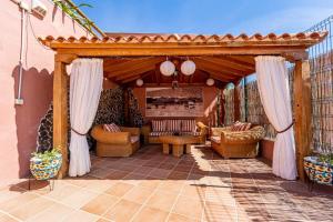
[[[264,138],[263,127],[246,131],[231,131],[231,128],[212,129],[212,148],[223,158],[255,158],[259,141]]]

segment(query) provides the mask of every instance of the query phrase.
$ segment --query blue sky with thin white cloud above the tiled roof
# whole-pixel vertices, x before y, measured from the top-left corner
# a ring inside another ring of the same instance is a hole
[[[333,14],[333,0],[74,0],[105,32],[299,32]]]

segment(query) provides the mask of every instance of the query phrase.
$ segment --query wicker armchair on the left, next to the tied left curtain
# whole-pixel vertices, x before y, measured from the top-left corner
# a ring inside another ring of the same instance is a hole
[[[108,132],[95,125],[91,135],[97,140],[98,157],[130,157],[140,148],[140,129],[120,127],[121,132]]]

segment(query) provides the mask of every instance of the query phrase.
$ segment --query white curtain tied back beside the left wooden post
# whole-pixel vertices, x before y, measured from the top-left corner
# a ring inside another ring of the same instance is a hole
[[[70,74],[70,176],[90,171],[85,134],[95,117],[103,82],[103,60],[77,59]]]

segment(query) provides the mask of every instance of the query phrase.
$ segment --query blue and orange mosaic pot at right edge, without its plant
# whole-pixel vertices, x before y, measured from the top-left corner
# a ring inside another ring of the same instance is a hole
[[[333,185],[333,165],[319,162],[317,157],[305,157],[304,170],[311,181]]]

